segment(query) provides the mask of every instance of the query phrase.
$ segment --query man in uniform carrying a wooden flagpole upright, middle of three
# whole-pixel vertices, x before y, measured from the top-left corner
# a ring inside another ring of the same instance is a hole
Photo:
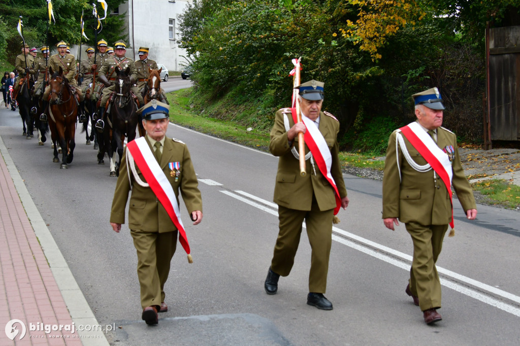
[[[307,304],[332,310],[332,303],[323,296],[327,288],[332,222],[337,210],[345,209],[349,201],[338,157],[336,137],[340,123],[332,114],[321,112],[323,87],[323,83],[314,79],[297,87],[304,122],[295,123],[289,108],[281,109],[275,115],[269,151],[280,157],[274,196],[280,223],[264,288],[267,294],[276,294],[279,277],[291,272],[305,220],[312,248]],[[298,148],[300,132],[322,144],[310,151],[306,140],[305,152],[309,157],[306,157],[304,176],[300,175],[298,151],[293,149]],[[320,165],[323,160],[331,165]]]

